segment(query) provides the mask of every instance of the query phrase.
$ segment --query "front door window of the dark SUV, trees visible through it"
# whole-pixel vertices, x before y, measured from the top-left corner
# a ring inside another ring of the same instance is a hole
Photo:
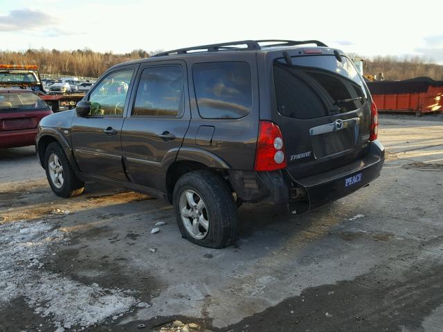
[[[133,69],[109,74],[89,95],[91,116],[123,116]]]

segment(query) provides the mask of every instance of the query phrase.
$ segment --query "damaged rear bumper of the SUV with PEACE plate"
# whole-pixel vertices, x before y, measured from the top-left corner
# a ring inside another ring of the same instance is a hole
[[[370,151],[363,158],[314,176],[293,178],[287,171],[233,171],[229,180],[242,201],[262,201],[302,213],[368,185],[380,175],[384,155],[383,145],[375,140],[370,143]]]

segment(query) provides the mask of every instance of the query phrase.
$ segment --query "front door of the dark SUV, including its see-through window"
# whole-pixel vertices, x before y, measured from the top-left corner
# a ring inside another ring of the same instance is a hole
[[[81,172],[127,181],[120,137],[135,72],[136,66],[127,66],[106,75],[87,96],[89,115],[74,116],[71,137]]]

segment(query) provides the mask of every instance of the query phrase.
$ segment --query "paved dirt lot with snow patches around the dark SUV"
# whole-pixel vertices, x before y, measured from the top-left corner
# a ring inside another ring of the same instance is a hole
[[[0,150],[0,331],[443,331],[443,122],[381,116],[379,137],[369,187],[302,216],[244,205],[224,250],[142,194],[60,199],[33,147]]]

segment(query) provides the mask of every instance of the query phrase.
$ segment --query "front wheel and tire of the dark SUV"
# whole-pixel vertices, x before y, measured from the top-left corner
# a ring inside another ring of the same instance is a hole
[[[71,164],[59,143],[52,142],[46,148],[44,152],[44,168],[46,169],[48,183],[57,196],[67,199],[82,194],[84,182],[75,176]],[[55,176],[55,173],[58,173],[59,176]],[[62,178],[60,178],[60,173]]]

